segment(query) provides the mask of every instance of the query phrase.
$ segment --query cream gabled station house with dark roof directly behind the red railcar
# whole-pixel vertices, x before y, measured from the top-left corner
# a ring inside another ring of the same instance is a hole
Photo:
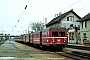
[[[65,27],[68,30],[68,42],[69,43],[81,43],[79,22],[81,17],[78,16],[73,9],[65,13],[59,13],[53,18],[46,27]]]

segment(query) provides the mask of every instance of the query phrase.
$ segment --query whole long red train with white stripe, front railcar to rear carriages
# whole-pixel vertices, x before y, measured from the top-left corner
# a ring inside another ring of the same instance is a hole
[[[21,40],[20,40],[21,41]],[[46,28],[42,31],[22,35],[22,42],[43,48],[63,49],[68,44],[66,28]]]

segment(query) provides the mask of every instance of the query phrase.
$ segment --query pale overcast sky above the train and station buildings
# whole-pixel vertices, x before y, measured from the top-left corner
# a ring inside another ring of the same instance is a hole
[[[71,9],[80,17],[90,12],[90,0],[30,0],[29,3],[28,1],[0,0],[0,33],[12,35],[26,33],[30,22],[43,22],[44,18],[49,22],[55,18],[55,14]],[[26,4],[27,9],[24,10]]]

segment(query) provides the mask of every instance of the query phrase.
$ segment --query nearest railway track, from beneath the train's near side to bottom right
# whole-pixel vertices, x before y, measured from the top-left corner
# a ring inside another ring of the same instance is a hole
[[[34,46],[32,46],[34,47]],[[36,48],[36,47],[34,47]],[[83,53],[80,51],[72,51],[72,50],[67,50],[64,49],[63,51],[49,51],[49,50],[44,50],[40,47],[37,47],[37,49],[41,50],[41,51],[46,51],[45,53],[50,53],[50,54],[56,54],[56,55],[60,55],[60,56],[64,56],[70,59],[74,59],[74,60],[90,60],[90,54],[88,53]]]

